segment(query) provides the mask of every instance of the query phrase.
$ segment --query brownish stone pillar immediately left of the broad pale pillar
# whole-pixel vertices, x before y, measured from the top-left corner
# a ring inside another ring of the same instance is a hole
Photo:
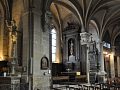
[[[32,89],[32,66],[33,66],[33,14],[32,14],[32,4],[30,0],[24,0],[24,12],[22,16],[23,21],[23,60],[22,68],[23,72],[21,75],[21,82],[28,83],[29,90]]]

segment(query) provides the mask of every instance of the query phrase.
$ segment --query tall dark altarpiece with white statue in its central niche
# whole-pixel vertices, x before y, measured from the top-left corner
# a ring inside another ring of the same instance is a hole
[[[63,64],[65,69],[80,71],[80,26],[69,23],[63,31]]]

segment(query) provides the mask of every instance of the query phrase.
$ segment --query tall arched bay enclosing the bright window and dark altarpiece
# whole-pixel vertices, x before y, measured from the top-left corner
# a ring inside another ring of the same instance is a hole
[[[71,2],[54,1],[50,5],[53,15],[51,33],[51,59],[53,83],[75,81],[76,72],[84,74],[80,61],[80,21]],[[71,72],[69,75],[68,73]],[[61,78],[61,76],[64,76]],[[59,80],[55,80],[57,79]],[[64,79],[65,78],[65,79]],[[77,77],[76,77],[77,78]],[[79,78],[78,78],[79,79]],[[85,79],[84,79],[85,81]]]

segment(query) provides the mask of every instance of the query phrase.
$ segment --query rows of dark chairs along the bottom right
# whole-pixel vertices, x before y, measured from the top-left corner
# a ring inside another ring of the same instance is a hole
[[[80,82],[63,83],[52,90],[120,90],[120,78],[108,79],[106,83],[82,84]]]

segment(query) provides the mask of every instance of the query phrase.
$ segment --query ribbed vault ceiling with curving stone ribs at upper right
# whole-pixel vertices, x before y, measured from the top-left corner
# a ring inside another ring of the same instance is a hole
[[[94,20],[99,29],[99,37],[110,34],[111,42],[120,32],[120,0],[53,0],[50,8],[61,27],[65,17],[74,14],[79,23],[88,29]]]

